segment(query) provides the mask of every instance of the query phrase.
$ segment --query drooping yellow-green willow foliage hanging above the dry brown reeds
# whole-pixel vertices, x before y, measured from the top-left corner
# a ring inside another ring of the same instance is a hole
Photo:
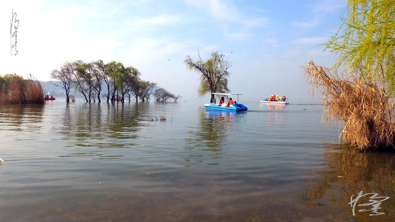
[[[341,65],[395,96],[395,1],[348,0],[347,18],[326,44]],[[381,85],[380,84],[380,85]]]

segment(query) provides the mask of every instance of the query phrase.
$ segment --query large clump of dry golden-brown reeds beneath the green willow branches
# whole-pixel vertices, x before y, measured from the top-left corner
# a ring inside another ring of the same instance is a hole
[[[312,61],[304,69],[314,90],[324,99],[325,123],[345,123],[340,139],[358,149],[395,148],[393,101],[383,88],[357,76],[339,77]]]

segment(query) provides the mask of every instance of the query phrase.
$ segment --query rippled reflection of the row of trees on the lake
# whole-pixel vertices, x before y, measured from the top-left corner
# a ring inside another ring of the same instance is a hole
[[[66,104],[62,114],[62,128],[56,130],[64,135],[70,147],[76,148],[123,148],[135,146],[147,104]],[[120,158],[86,149],[69,156],[94,156]]]

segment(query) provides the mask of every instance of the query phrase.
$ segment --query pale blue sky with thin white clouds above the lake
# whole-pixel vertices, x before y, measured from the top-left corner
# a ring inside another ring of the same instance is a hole
[[[220,51],[232,62],[229,87],[245,100],[285,94],[311,98],[302,67],[331,67],[323,43],[346,0],[9,0],[0,2],[0,74],[50,72],[67,61],[119,61],[141,78],[197,98],[199,74],[183,62]],[[12,55],[12,12],[19,20]]]

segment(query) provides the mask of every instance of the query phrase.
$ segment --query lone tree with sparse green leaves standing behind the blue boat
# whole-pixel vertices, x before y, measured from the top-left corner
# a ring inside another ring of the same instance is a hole
[[[198,52],[198,51],[197,51]],[[198,52],[199,59],[195,61],[187,55],[184,63],[189,70],[197,71],[200,74],[200,86],[197,90],[199,96],[207,93],[227,93],[228,88],[228,69],[232,67],[231,62],[225,60],[225,55],[216,51],[212,52],[209,59],[203,62]],[[214,95],[211,94],[211,102],[214,101]]]

